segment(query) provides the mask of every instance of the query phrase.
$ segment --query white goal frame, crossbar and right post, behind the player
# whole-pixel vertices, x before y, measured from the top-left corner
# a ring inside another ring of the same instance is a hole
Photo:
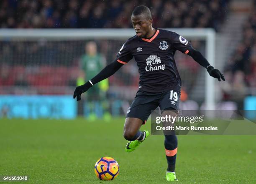
[[[206,58],[215,66],[215,30],[212,28],[165,28],[185,38],[200,38],[206,42]],[[126,40],[135,35],[133,29],[0,29],[0,41],[3,40],[87,40],[112,39]],[[205,106],[206,110],[215,109],[215,85],[205,71]]]

